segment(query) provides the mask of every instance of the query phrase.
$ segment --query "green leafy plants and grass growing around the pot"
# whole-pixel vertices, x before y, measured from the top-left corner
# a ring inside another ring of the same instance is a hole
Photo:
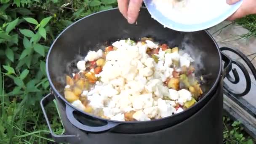
[[[0,144],[53,141],[40,108],[49,93],[49,46],[73,21],[116,6],[116,0],[0,0]],[[240,19],[240,24],[255,35],[246,21],[253,19]],[[56,103],[46,109],[53,131],[63,134]],[[225,144],[252,144],[238,122],[225,117],[224,125]]]

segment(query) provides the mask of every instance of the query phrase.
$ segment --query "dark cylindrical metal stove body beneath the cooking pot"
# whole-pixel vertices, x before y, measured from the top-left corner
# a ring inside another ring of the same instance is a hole
[[[55,96],[66,134],[77,138],[65,139],[70,144],[222,144],[223,84],[210,101],[187,120],[152,133],[87,133],[67,119],[65,105]],[[61,139],[57,142],[63,142]]]

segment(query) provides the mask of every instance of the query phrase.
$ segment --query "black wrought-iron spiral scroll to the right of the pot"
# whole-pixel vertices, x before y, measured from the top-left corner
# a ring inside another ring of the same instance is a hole
[[[241,59],[243,59],[245,64],[247,64],[249,69],[251,70],[253,77],[256,79],[256,69],[255,69],[255,67],[253,66],[251,61],[247,58],[247,56],[245,56],[241,51],[239,51],[238,49],[228,48],[228,47],[222,47],[222,48],[220,48],[220,50],[221,50],[222,54],[224,54],[223,51],[230,51],[232,53],[235,53]],[[231,59],[231,58],[229,58],[229,59]],[[226,91],[228,91],[230,94],[232,94],[233,96],[245,96],[251,90],[251,77],[248,73],[248,70],[245,68],[244,64],[242,64],[240,61],[237,61],[235,59],[231,59],[231,64],[237,65],[237,67],[239,67],[241,69],[241,71],[243,72],[243,75],[244,75],[245,81],[246,81],[246,88],[242,93],[237,93],[234,90],[232,90],[232,88],[229,88],[229,86],[224,82],[224,89]],[[225,65],[227,65],[227,64],[224,64],[224,66]],[[225,76],[227,77],[227,80],[229,80],[229,82],[231,82],[233,84],[239,83],[240,77],[239,77],[239,74],[237,72],[237,69],[233,68],[232,73],[233,73],[234,78],[232,78],[229,75],[229,72],[226,73]]]

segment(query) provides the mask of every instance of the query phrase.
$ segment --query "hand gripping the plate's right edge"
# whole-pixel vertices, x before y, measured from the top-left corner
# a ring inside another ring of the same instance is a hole
[[[240,0],[226,0],[227,4],[232,5],[237,3]],[[227,20],[235,20],[242,18],[244,16],[247,16],[249,14],[255,14],[256,13],[256,0],[243,0],[243,4],[240,6],[240,8],[237,9],[237,11],[230,16]]]

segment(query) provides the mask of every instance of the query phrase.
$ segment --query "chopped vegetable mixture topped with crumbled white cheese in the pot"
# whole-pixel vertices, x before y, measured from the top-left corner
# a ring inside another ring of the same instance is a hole
[[[89,51],[67,76],[64,96],[84,112],[118,121],[168,117],[194,105],[203,91],[194,60],[152,38],[119,40]]]

